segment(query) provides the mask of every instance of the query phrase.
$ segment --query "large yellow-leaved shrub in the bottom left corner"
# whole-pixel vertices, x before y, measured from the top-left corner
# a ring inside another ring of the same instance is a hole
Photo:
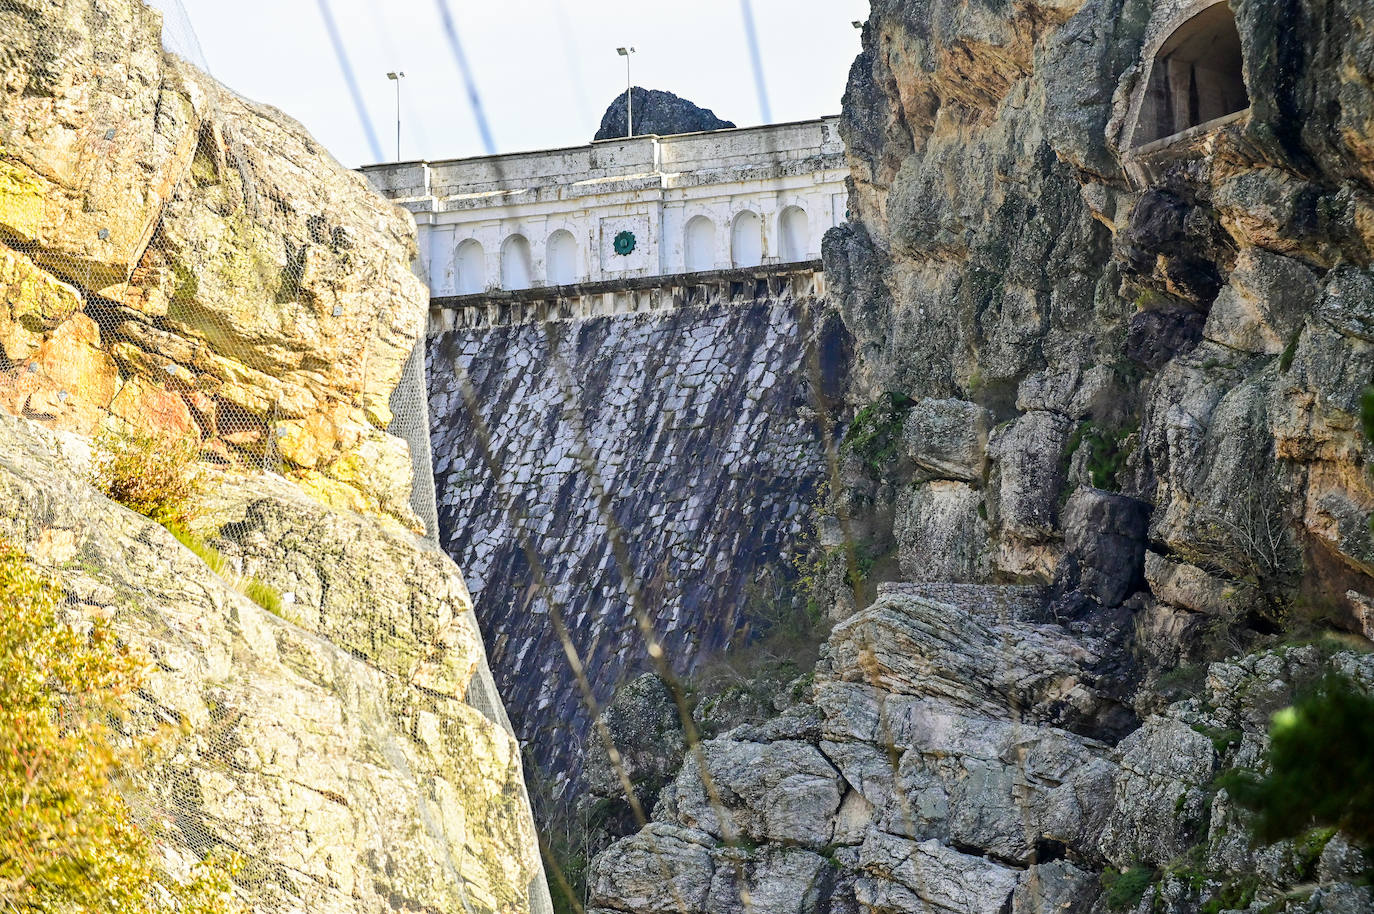
[[[180,884],[114,786],[150,749],[120,734],[143,665],[100,621],[59,618],[59,592],[0,542],[0,910],[154,910],[172,895],[190,914],[240,910],[232,865]]]

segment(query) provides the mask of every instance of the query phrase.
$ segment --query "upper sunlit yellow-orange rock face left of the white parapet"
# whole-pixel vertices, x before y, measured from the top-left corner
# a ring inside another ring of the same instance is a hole
[[[0,403],[284,460],[323,500],[415,526],[386,433],[426,305],[407,214],[165,52],[137,0],[7,4],[0,25]]]

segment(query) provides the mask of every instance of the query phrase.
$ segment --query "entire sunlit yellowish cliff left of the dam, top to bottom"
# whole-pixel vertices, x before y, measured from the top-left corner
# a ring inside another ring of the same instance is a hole
[[[530,910],[519,745],[469,704],[471,601],[387,432],[423,405],[393,396],[414,224],[161,30],[0,4],[0,540],[147,668],[122,733],[170,744],[118,786],[159,871],[229,854],[260,911]],[[121,441],[194,458],[174,518],[91,485]]]

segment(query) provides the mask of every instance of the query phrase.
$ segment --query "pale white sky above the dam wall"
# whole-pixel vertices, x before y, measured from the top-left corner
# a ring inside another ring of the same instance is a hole
[[[166,8],[174,0],[157,5]],[[763,122],[741,0],[444,0],[474,73],[496,150],[577,146],[625,88],[669,89],[741,126]],[[330,43],[320,0],[181,0],[210,73],[300,120],[348,166],[375,159]],[[481,155],[482,140],[437,4],[327,0],[383,159]],[[840,111],[867,0],[753,0],[772,121]],[[177,37],[169,16],[169,41]],[[181,49],[179,47],[179,49]]]

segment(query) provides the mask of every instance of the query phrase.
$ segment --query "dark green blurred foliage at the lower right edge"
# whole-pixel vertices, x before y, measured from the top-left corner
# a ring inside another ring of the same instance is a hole
[[[1235,772],[1223,786],[1252,810],[1261,841],[1334,827],[1374,844],[1374,697],[1330,676],[1274,715],[1268,774]]]

